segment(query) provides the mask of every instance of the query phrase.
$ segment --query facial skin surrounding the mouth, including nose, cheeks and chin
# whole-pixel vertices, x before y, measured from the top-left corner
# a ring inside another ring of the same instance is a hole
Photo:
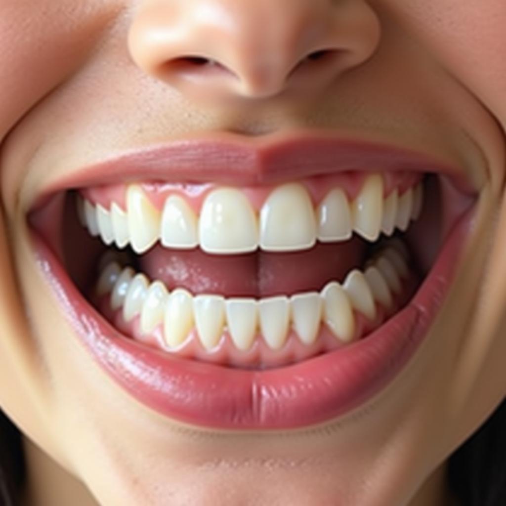
[[[445,460],[506,392],[505,24],[502,0],[3,0],[0,405],[66,470],[57,483],[125,506],[449,503]],[[321,47],[337,56],[290,74]],[[230,72],[185,79],[175,59],[204,51]],[[323,428],[218,433],[148,411],[83,353],[40,276],[34,198],[112,152],[301,127],[425,149],[474,181],[427,346],[367,410]]]

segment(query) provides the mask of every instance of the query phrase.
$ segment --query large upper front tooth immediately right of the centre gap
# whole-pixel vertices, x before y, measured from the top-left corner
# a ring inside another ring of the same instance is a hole
[[[307,249],[316,242],[316,218],[309,194],[299,183],[276,188],[260,212],[260,247],[266,251]]]

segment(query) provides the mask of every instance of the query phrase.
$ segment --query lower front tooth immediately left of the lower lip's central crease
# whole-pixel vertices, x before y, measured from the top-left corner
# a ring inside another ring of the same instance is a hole
[[[227,299],[227,326],[236,348],[251,348],[258,327],[258,302],[255,299]]]

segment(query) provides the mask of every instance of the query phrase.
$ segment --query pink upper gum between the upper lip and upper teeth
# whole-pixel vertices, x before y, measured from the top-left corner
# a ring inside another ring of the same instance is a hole
[[[359,193],[364,180],[371,176],[371,172],[353,172],[339,173],[334,175],[307,178],[299,181],[308,191],[314,207],[316,207],[325,197],[325,195],[335,187],[342,188],[348,196],[348,200],[352,201]],[[423,174],[415,172],[388,172],[381,173],[384,180],[385,196],[389,195],[394,189],[398,189],[403,193],[408,188],[414,186]],[[267,200],[269,194],[277,187],[282,186],[286,182],[277,185],[257,186],[237,188],[248,198],[252,208],[256,212],[260,212],[262,205]],[[132,184],[132,183],[129,183]],[[123,210],[126,210],[126,189],[129,184],[116,184],[100,187],[87,187],[80,190],[80,193],[95,205],[99,204],[106,209],[110,209],[114,202]],[[185,199],[195,214],[200,214],[200,209],[205,197],[226,185],[213,183],[200,184],[181,184],[166,182],[138,182],[151,203],[161,212],[165,200],[170,195],[180,195]]]

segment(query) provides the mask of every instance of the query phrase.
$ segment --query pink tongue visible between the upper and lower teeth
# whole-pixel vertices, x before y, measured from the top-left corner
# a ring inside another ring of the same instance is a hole
[[[319,291],[328,281],[342,281],[350,270],[362,267],[366,248],[366,242],[356,236],[346,242],[317,244],[307,251],[230,256],[158,245],[139,259],[139,267],[169,290],[181,287],[194,295],[262,298]]]

